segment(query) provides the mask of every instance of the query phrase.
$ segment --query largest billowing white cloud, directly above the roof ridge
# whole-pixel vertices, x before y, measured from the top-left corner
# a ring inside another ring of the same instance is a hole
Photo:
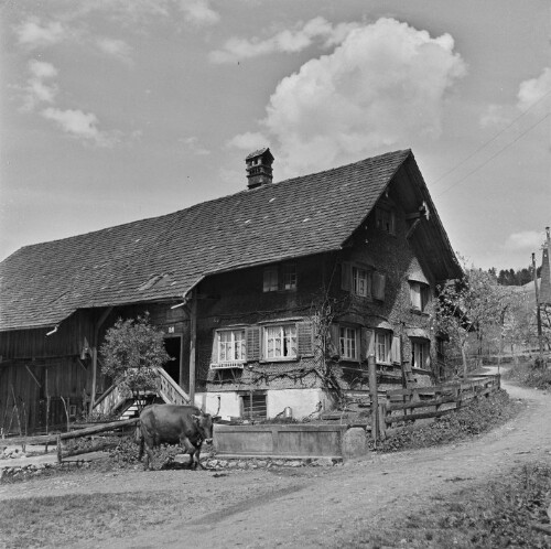
[[[437,138],[446,93],[465,74],[449,34],[432,39],[380,19],[349,31],[333,53],[283,78],[260,126],[283,176],[323,170],[409,147],[418,136]]]

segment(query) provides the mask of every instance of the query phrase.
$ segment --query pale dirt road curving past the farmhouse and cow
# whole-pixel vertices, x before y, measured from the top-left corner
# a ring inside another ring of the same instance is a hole
[[[445,496],[525,462],[551,463],[551,395],[506,388],[511,397],[527,400],[528,408],[507,426],[465,443],[324,470],[132,471],[37,478],[25,483],[24,493],[17,492],[21,485],[2,486],[0,500],[75,493],[163,493],[172,498],[164,508],[128,509],[137,518],[122,539],[106,530],[80,539],[80,548],[334,547],[357,528],[429,506],[436,494]],[[155,527],[155,517],[169,521]]]

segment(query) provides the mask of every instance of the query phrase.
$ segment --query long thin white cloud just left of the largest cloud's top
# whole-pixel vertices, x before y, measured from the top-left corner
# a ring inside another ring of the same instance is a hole
[[[316,39],[324,47],[339,44],[358,23],[339,23],[333,26],[317,17],[306,23],[296,23],[291,30],[283,30],[266,40],[231,37],[222,50],[210,52],[213,63],[235,63],[239,60],[258,57],[274,52],[296,53],[311,46]]]

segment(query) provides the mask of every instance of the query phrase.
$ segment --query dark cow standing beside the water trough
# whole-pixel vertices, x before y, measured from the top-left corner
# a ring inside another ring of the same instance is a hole
[[[203,441],[213,442],[213,417],[204,413],[195,406],[151,405],[140,413],[140,454],[145,460],[143,470],[147,471],[153,461],[153,448],[161,443],[180,443],[190,454],[190,467],[197,469]]]

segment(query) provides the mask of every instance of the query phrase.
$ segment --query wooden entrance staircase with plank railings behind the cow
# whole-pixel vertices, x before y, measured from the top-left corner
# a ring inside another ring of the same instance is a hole
[[[139,416],[140,409],[151,401],[151,397],[159,398],[168,405],[190,405],[188,395],[162,368],[155,368],[156,391],[144,395],[139,399],[122,395],[116,385],[111,385],[95,402],[93,412],[102,416],[119,415],[119,419],[132,419]],[[149,398],[148,398],[149,397]]]

